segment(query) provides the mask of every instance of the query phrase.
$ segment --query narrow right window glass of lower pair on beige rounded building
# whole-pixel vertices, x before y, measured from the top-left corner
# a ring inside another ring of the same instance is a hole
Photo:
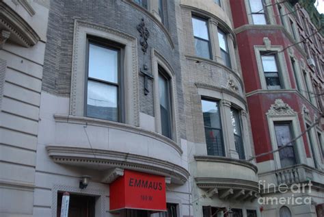
[[[242,138],[242,131],[241,131],[241,118],[239,116],[239,111],[234,108],[231,108],[230,114],[232,118],[232,128],[234,133],[235,148],[237,149],[237,153],[239,153],[239,158],[245,159],[243,138]]]

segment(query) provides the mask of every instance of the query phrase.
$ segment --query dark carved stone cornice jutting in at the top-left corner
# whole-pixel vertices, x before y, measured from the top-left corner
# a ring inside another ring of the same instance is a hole
[[[40,40],[36,31],[3,1],[0,1],[0,28],[10,31],[10,40],[23,47],[31,47]]]

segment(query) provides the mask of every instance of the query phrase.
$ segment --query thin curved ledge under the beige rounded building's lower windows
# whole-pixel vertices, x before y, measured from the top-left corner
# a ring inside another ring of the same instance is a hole
[[[234,159],[228,157],[219,157],[219,156],[212,156],[212,155],[195,155],[194,156],[196,162],[219,162],[219,163],[226,163],[226,164],[235,164],[239,166],[244,166],[254,171],[254,173],[258,173],[258,168],[245,160],[241,159]]]

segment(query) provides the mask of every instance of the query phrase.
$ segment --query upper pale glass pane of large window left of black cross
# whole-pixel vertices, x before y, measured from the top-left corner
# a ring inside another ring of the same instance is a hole
[[[89,46],[89,77],[118,83],[118,51]]]

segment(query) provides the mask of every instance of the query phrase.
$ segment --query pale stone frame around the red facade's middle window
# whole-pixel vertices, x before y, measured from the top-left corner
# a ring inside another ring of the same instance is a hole
[[[278,52],[275,54],[278,64],[278,73],[280,77],[280,81],[282,81],[282,88],[283,89],[291,89],[291,81],[288,75],[288,68],[286,65],[286,59],[284,57],[281,45],[272,45],[270,48],[267,48],[265,45],[254,45],[254,53],[256,55],[256,64],[258,66],[258,74],[260,77],[260,84],[263,90],[268,90],[267,83],[265,80],[265,72],[263,71],[262,67],[262,60],[261,60],[261,53],[271,53],[271,52]]]

